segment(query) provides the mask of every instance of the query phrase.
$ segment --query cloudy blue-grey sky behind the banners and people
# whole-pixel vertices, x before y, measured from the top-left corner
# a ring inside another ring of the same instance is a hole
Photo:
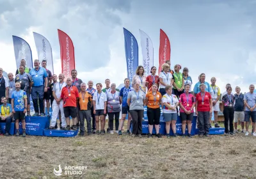
[[[109,78],[118,86],[127,77],[123,27],[138,41],[139,65],[139,29],[150,36],[157,69],[161,28],[170,39],[172,69],[188,67],[193,84],[205,73],[209,83],[216,77],[221,92],[227,83],[246,92],[256,76],[255,9],[253,0],[0,0],[0,67],[15,73],[12,35],[38,58],[35,31],[51,43],[54,74],[60,74],[61,29],[74,43],[77,77],[94,84]]]

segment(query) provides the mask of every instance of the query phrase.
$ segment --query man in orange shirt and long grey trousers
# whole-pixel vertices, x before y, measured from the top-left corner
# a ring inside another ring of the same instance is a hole
[[[81,91],[79,93],[79,116],[80,116],[80,135],[84,136],[84,118],[87,123],[88,135],[92,134],[92,118],[91,118],[91,109],[92,109],[92,95],[86,91],[86,83],[81,83]]]

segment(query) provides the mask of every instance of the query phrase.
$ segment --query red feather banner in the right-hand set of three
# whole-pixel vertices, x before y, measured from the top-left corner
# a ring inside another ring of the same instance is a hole
[[[159,44],[159,68],[158,74],[162,70],[163,63],[171,58],[171,45],[168,36],[160,29],[160,44]]]

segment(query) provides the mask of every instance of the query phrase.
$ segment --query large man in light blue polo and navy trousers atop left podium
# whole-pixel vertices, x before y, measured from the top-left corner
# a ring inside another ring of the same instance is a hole
[[[47,91],[47,86],[48,86],[47,72],[45,68],[40,67],[40,62],[38,59],[35,59],[34,66],[35,68],[31,69],[29,72],[34,82],[32,86],[32,91],[31,91],[33,105],[35,108],[34,116],[39,116],[38,98],[39,98],[39,106],[40,106],[40,116],[45,116],[44,93]]]

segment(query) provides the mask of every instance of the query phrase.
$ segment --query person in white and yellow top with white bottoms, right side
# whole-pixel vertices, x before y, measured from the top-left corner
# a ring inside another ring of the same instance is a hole
[[[211,78],[211,85],[210,85],[211,90],[209,91],[212,96],[212,111],[214,111],[214,127],[220,127],[218,124],[218,111],[220,111],[220,88],[216,86],[216,78],[212,77]],[[210,114],[210,119],[209,119],[209,127],[211,128],[211,119],[212,119],[212,114]]]

